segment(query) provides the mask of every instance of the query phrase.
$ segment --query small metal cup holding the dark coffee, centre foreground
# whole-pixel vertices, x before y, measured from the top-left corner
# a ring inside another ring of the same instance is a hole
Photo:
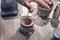
[[[31,22],[31,23],[26,25],[26,24],[23,22],[24,19],[30,19],[31,21],[29,21],[29,22]],[[28,36],[30,36],[30,35],[33,34],[33,32],[34,32],[34,29],[33,29],[34,22],[33,22],[33,18],[32,18],[32,17],[30,17],[30,16],[22,16],[22,17],[20,18],[20,25],[21,25],[20,31],[21,31],[21,33],[22,33],[24,36],[28,37]]]

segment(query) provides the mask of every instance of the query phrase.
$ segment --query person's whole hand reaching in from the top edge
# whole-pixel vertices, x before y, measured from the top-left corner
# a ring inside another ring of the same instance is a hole
[[[32,1],[37,2],[39,5],[42,5],[45,8],[50,8],[48,6],[48,4],[51,4],[49,0],[23,0],[25,6],[29,9],[30,12],[34,11],[34,7],[30,4]]]

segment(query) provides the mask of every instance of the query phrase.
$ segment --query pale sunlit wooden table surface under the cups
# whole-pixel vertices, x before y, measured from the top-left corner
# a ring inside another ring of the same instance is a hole
[[[18,4],[18,9],[18,15],[15,17],[2,18],[0,15],[0,40],[26,40],[26,38],[19,32],[20,17],[23,13],[23,7]],[[35,31],[28,40],[51,40],[54,28],[50,23],[44,25],[44,22],[46,21],[42,20],[40,17],[36,20],[34,24]]]

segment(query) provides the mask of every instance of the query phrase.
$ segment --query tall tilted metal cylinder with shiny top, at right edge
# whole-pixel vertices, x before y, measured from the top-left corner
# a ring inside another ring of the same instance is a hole
[[[60,16],[60,2],[57,2],[57,6],[54,10],[54,14],[53,14],[52,20],[51,20],[51,25],[53,27],[58,27],[58,25],[59,25],[59,16]]]

